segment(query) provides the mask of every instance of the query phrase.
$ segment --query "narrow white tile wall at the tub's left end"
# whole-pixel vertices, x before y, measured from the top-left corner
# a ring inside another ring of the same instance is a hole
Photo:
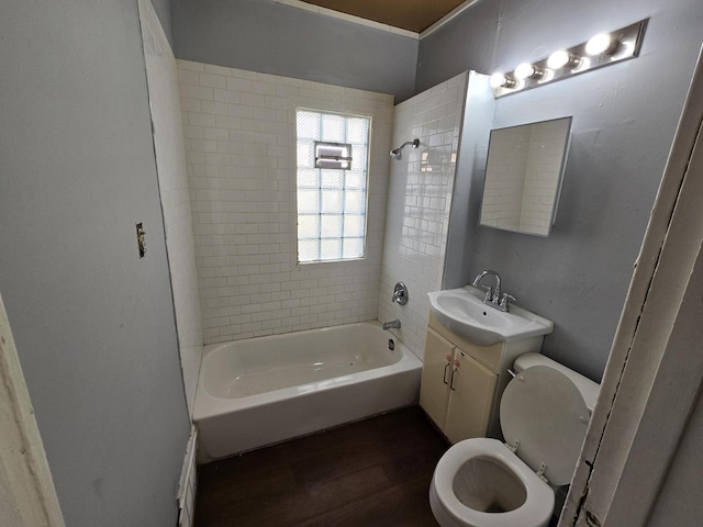
[[[178,75],[174,53],[149,1],[140,0],[140,15],[180,363],[188,411],[192,415],[203,334]],[[149,226],[145,229],[148,233]]]

